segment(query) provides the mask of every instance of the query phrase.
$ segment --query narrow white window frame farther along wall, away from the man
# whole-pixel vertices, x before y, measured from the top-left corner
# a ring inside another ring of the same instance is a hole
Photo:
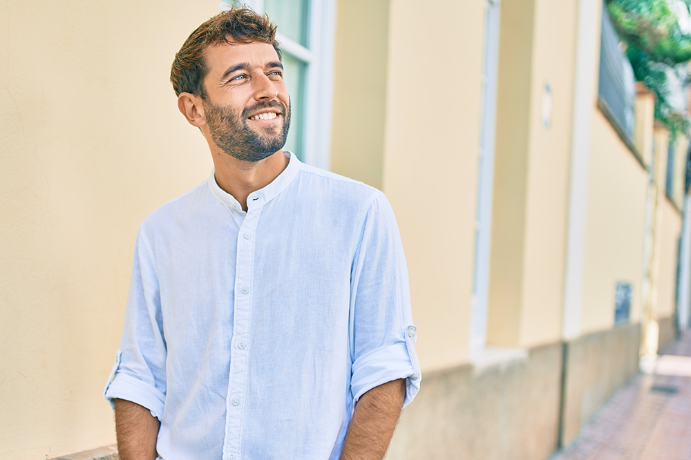
[[[494,143],[497,119],[500,0],[485,0],[484,63],[482,69],[482,118],[477,168],[475,260],[471,307],[471,360],[477,361],[487,345],[487,298],[492,236]]]

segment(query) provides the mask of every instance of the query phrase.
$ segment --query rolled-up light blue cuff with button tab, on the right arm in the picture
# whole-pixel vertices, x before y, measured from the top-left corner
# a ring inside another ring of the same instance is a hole
[[[352,365],[350,388],[353,402],[360,396],[386,382],[406,379],[406,399],[403,407],[410,404],[420,390],[420,365],[415,351],[415,326],[406,329],[406,341],[387,345],[357,358]],[[354,404],[352,406],[355,407]],[[354,409],[353,409],[354,410]]]

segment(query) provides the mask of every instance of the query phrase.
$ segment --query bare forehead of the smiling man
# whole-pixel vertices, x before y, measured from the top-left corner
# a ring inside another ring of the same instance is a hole
[[[204,58],[209,75],[223,75],[228,68],[237,64],[263,67],[269,62],[278,61],[274,47],[260,41],[214,44],[204,50]]]

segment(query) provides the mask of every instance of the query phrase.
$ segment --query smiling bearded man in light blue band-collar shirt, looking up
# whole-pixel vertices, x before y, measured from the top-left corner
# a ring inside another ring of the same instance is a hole
[[[214,172],[138,233],[104,390],[122,460],[381,459],[419,389],[392,209],[282,150],[275,32],[230,10],[173,62]]]

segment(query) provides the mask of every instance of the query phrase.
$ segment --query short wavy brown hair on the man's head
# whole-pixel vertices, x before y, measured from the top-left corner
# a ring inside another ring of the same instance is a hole
[[[267,15],[258,15],[247,8],[232,8],[212,17],[192,32],[175,55],[171,83],[176,96],[191,93],[204,99],[204,77],[208,69],[204,60],[207,46],[220,43],[252,43],[259,41],[274,47],[278,60],[281,50],[276,41],[276,26]]]

